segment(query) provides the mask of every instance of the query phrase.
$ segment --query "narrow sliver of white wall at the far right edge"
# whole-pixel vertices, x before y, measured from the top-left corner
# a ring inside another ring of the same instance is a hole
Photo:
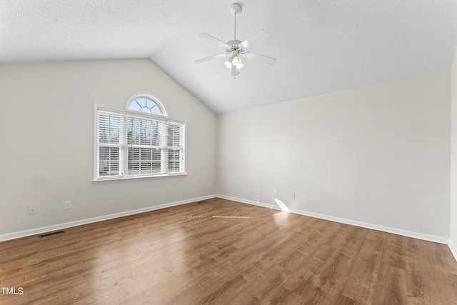
[[[457,260],[457,52],[451,70],[451,239]]]

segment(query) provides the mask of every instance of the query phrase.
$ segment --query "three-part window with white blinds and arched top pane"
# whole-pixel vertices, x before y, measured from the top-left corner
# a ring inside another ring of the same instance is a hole
[[[126,110],[95,107],[94,180],[186,174],[186,124],[158,115],[166,114],[159,101],[136,96]]]

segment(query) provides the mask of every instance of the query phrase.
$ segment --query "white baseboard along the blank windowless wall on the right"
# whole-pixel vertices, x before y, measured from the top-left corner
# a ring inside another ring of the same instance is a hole
[[[247,200],[247,199],[241,199],[241,198],[236,198],[236,197],[231,197],[231,196],[225,196],[225,195],[217,195],[217,197],[219,197],[221,199],[227,199],[227,200],[231,200],[231,201],[238,201],[238,202],[242,202],[244,204],[253,204],[253,205],[256,205],[256,206],[263,206],[263,207],[268,208],[268,209],[276,209],[276,210],[281,211],[279,206],[274,205],[274,204],[265,204],[263,202],[257,202],[257,201]],[[392,234],[397,234],[397,235],[401,235],[401,236],[412,237],[413,239],[422,239],[422,240],[425,240],[425,241],[433,241],[433,242],[436,242],[438,244],[449,244],[449,239],[444,238],[444,237],[440,237],[440,236],[433,236],[433,235],[418,233],[418,232],[414,232],[414,231],[396,229],[396,228],[391,228],[389,226],[379,226],[377,224],[367,224],[367,223],[361,222],[361,221],[354,221],[354,220],[351,220],[351,219],[343,219],[343,218],[338,218],[338,217],[334,217],[334,216],[317,214],[317,213],[313,213],[313,212],[309,212],[309,211],[302,211],[302,210],[298,210],[298,209],[290,209],[289,211],[291,213],[293,213],[293,214],[299,214],[299,215],[310,216],[310,217],[314,217],[314,218],[318,218],[318,219],[335,221],[335,222],[338,222],[338,223],[341,223],[341,224],[349,224],[351,226],[360,226],[361,228],[373,229],[373,230],[376,230],[376,231],[383,231],[383,232],[386,232],[386,233],[392,233]],[[454,250],[455,250],[455,247],[454,247]],[[451,251],[452,251],[452,249],[451,249]],[[453,254],[454,253],[455,252],[453,252]],[[457,257],[456,254],[454,254],[454,256]]]

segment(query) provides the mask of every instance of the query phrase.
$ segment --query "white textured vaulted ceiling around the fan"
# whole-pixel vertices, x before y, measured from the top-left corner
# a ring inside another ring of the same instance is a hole
[[[237,39],[270,38],[233,79],[201,39],[233,39],[234,1],[0,0],[0,62],[150,58],[213,109],[226,113],[450,69],[455,0],[246,0]]]

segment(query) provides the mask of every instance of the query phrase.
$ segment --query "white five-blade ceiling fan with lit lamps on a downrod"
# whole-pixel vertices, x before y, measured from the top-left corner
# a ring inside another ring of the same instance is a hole
[[[231,69],[232,76],[237,76],[239,74],[239,69],[241,69],[244,66],[243,61],[241,60],[240,56],[243,56],[247,59],[258,60],[265,64],[276,63],[276,59],[273,59],[273,57],[269,57],[269,56],[247,51],[248,46],[249,46],[249,44],[251,44],[251,42],[268,38],[268,36],[269,36],[268,32],[259,30],[244,41],[236,40],[236,15],[241,14],[241,6],[237,3],[234,3],[230,6],[230,10],[231,10],[232,14],[235,15],[235,30],[234,30],[233,40],[224,42],[224,41],[221,41],[220,39],[217,39],[214,36],[211,36],[210,34],[206,34],[206,33],[199,34],[199,36],[201,38],[211,41],[214,44],[217,44],[218,46],[222,46],[224,48],[224,53],[205,57],[204,59],[199,59],[194,62],[196,64],[201,64],[205,61],[211,61],[213,59],[219,59],[221,57],[228,56],[229,59],[227,59],[227,61],[224,63],[224,65],[227,68]]]

